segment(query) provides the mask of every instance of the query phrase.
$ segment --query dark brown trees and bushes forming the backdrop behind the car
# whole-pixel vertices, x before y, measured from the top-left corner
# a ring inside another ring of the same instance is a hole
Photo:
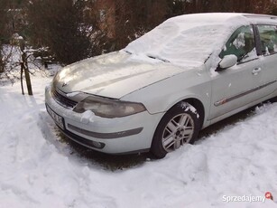
[[[270,0],[226,0],[224,3],[221,0],[76,0],[74,4],[71,0],[10,1],[16,6],[29,2],[28,26],[20,35],[33,46],[49,46],[63,63],[120,50],[167,18],[180,14],[276,14],[276,4]],[[8,0],[0,0],[0,7],[3,2]],[[99,4],[102,5],[97,7]],[[99,17],[101,10],[105,20]]]

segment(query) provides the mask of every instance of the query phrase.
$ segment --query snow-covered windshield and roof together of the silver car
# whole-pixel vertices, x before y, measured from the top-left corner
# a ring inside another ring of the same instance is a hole
[[[273,17],[235,13],[180,15],[130,43],[125,51],[171,61],[175,65],[197,66],[212,52],[219,53],[239,25],[263,22],[263,19],[276,23]]]

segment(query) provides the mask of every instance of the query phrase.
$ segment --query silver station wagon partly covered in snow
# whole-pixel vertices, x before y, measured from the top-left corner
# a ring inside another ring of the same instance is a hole
[[[173,17],[119,52],[66,66],[45,90],[72,140],[158,158],[275,96],[277,17],[262,14]]]

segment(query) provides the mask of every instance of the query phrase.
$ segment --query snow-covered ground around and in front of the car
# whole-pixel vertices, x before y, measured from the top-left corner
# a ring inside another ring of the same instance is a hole
[[[44,107],[50,81],[32,78],[33,97],[20,83],[0,87],[0,207],[277,207],[277,103],[162,160],[112,171],[60,141]],[[275,201],[224,202],[266,192]]]

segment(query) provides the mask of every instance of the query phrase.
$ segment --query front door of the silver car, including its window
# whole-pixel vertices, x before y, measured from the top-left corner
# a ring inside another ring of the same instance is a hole
[[[218,118],[232,110],[239,109],[263,96],[261,72],[263,63],[257,56],[254,27],[246,25],[231,35],[225,48],[219,54],[223,58],[235,54],[237,64],[218,71],[212,81],[212,98],[209,119]]]

